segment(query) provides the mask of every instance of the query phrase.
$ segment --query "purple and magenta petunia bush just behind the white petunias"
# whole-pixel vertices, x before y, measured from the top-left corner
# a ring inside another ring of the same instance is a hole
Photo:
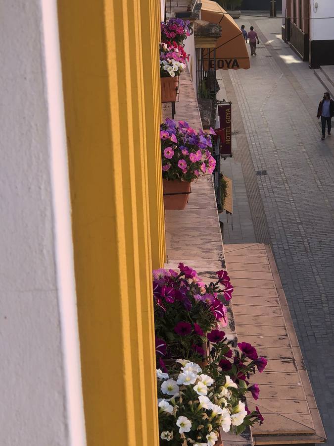
[[[205,334],[227,325],[227,308],[233,287],[225,271],[205,285],[192,268],[179,264],[175,270],[153,271],[156,353],[159,367],[164,360],[186,357],[203,360]],[[164,359],[162,359],[164,358]]]

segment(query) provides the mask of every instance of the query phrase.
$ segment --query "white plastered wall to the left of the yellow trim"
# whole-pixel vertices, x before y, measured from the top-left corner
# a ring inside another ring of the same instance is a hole
[[[0,0],[1,446],[84,444],[63,121],[49,97],[55,90],[61,105],[61,89],[48,82],[59,54],[43,36],[56,29],[56,1],[43,2]]]

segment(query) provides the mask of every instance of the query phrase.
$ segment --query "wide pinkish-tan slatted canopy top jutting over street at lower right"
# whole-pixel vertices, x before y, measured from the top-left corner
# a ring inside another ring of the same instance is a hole
[[[296,444],[323,442],[325,433],[270,247],[255,243],[226,245],[224,250],[235,286],[238,336],[268,358],[266,371],[250,379],[261,391],[248,406],[256,404],[265,416],[265,423],[252,429],[254,444],[285,444],[291,438]]]

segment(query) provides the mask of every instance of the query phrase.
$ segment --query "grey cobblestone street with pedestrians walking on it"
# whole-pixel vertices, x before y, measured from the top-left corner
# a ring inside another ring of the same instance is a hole
[[[235,159],[223,170],[238,183],[237,209],[252,226],[242,232],[240,215],[240,231],[229,231],[232,239],[225,242],[255,237],[272,244],[334,445],[334,136],[321,141],[316,118],[324,87],[280,39],[280,19],[242,17],[238,23],[253,25],[261,44],[250,70],[220,71],[225,99],[234,101],[236,131]],[[256,176],[257,170],[267,174]]]

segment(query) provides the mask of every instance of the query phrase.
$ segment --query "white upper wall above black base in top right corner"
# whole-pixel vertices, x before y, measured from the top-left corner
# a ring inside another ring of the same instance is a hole
[[[311,1],[311,40],[334,40],[334,0]],[[318,3],[318,8],[314,7]],[[325,18],[320,18],[325,17]]]

